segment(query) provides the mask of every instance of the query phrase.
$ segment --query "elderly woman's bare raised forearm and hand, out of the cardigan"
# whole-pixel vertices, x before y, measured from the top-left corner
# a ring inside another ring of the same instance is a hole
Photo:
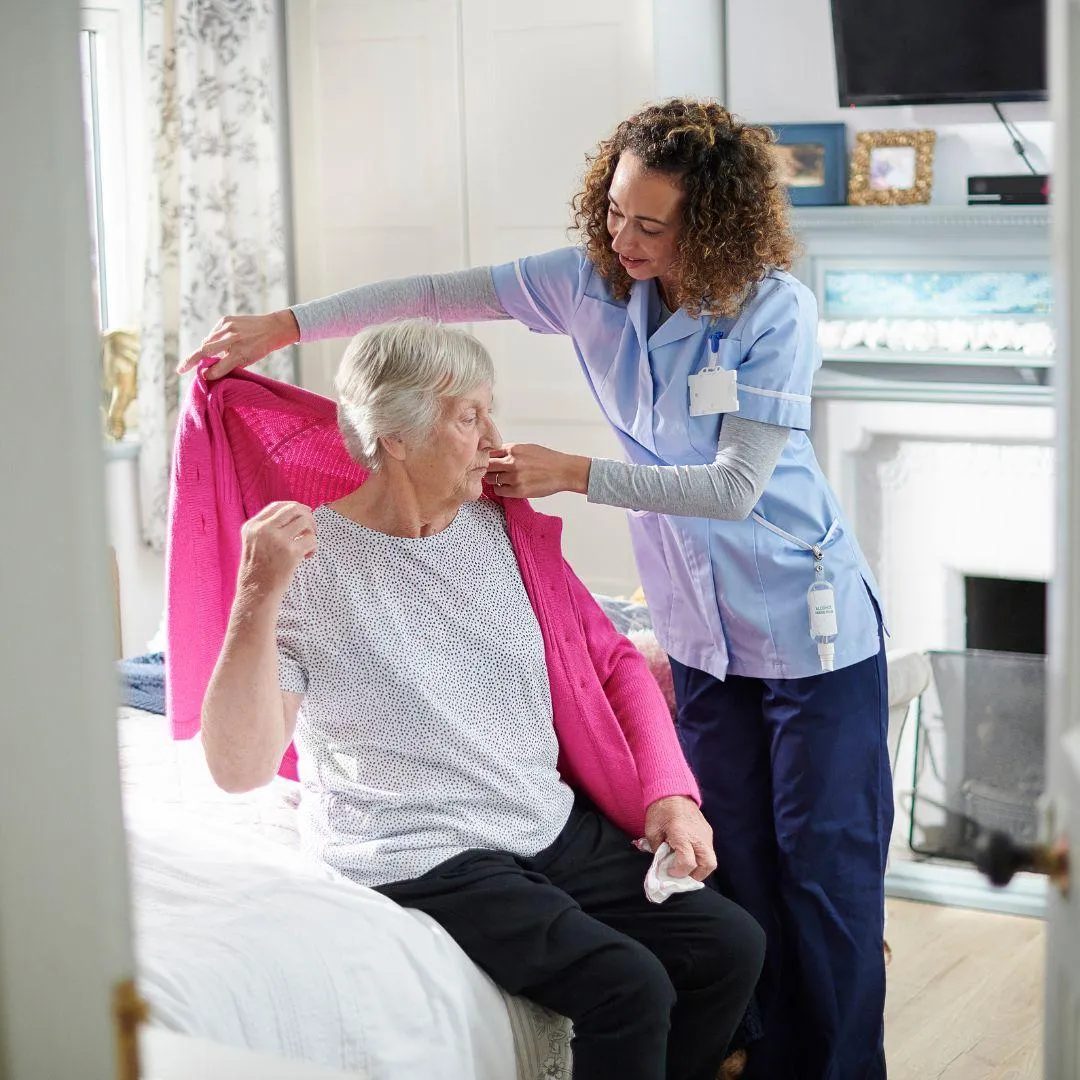
[[[237,595],[202,708],[206,762],[227,792],[269,783],[293,738],[301,699],[279,688],[278,615],[314,550],[311,511],[300,503],[271,503],[244,525]]]

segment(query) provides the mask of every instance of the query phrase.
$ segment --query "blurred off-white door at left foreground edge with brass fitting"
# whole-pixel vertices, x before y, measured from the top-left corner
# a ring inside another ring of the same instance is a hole
[[[116,1077],[133,973],[79,5],[0,31],[0,1076]]]

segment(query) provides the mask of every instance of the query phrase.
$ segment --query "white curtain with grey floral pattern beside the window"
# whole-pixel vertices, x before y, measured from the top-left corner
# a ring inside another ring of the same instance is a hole
[[[179,359],[288,302],[278,0],[144,0],[150,161],[139,356],[144,538],[162,550]],[[293,350],[258,369],[293,381]]]

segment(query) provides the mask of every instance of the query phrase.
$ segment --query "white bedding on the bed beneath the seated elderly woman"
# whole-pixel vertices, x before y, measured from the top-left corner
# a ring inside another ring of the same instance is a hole
[[[139,985],[153,1022],[366,1080],[559,1080],[568,1026],[427,916],[309,864],[296,785],[228,796],[201,748],[124,710]]]

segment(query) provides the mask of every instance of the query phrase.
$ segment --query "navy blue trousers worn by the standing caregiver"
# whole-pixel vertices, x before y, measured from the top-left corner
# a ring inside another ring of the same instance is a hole
[[[716,883],[766,934],[745,1080],[883,1080],[885,646],[809,678],[672,670]]]

